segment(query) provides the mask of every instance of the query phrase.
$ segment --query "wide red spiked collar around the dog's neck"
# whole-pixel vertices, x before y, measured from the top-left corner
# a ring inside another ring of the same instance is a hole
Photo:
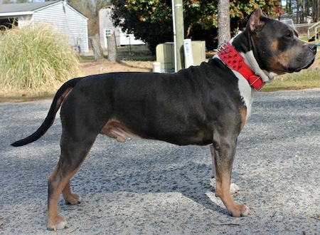
[[[247,66],[245,59],[230,43],[218,48],[218,56],[232,70],[238,71],[255,90],[261,90],[265,82]]]

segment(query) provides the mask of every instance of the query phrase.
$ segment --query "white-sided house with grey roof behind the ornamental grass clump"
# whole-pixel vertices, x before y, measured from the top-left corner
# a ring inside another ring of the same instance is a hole
[[[80,53],[88,52],[87,17],[66,1],[45,1],[25,4],[0,4],[0,26],[16,23],[19,27],[37,22],[50,22],[62,29],[70,45]]]

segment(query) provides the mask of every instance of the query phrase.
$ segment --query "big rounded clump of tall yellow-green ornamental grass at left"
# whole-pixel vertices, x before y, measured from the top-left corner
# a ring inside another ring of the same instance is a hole
[[[68,37],[53,25],[0,31],[1,90],[48,91],[79,73],[79,58]]]

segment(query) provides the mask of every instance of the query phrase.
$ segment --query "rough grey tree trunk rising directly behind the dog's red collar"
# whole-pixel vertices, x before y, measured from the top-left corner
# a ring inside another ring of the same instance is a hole
[[[230,40],[229,0],[218,0],[218,45]]]

